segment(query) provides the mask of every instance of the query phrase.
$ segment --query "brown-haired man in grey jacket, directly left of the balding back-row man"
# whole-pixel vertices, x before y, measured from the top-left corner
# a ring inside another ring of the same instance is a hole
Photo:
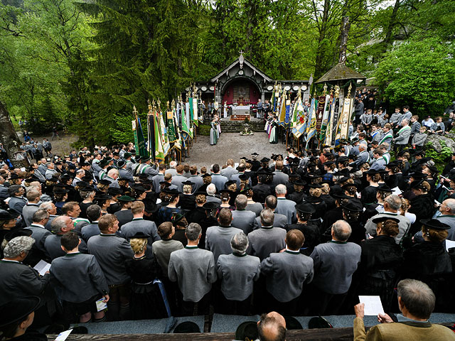
[[[304,283],[313,279],[313,259],[300,253],[305,237],[298,229],[287,232],[285,242],[286,251],[261,262],[261,273],[267,277],[269,310],[294,315]]]

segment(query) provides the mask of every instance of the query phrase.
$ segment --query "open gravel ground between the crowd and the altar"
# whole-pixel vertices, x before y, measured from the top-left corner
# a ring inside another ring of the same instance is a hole
[[[251,153],[258,153],[258,160],[273,154],[286,154],[286,144],[278,141],[278,144],[270,144],[265,131],[255,132],[252,136],[240,136],[238,133],[221,133],[218,144],[210,146],[208,136],[197,136],[196,144],[190,151],[190,157],[186,162],[190,165],[210,167],[213,163],[225,164],[228,158],[239,162],[242,156],[251,158]]]

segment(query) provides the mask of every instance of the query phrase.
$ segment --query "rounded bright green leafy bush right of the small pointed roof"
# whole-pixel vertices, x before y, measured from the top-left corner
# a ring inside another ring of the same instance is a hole
[[[409,40],[380,61],[375,84],[392,105],[409,104],[421,117],[442,114],[455,97],[454,55],[454,43]]]

